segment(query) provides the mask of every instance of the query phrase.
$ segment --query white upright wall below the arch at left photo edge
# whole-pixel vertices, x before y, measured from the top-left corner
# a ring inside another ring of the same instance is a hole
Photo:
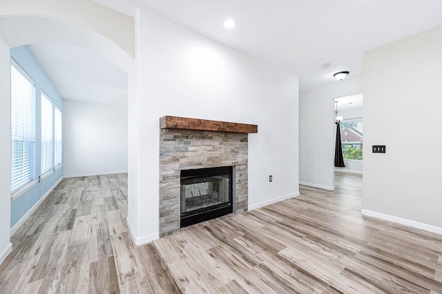
[[[12,251],[11,207],[11,115],[9,47],[0,38],[0,264]]]

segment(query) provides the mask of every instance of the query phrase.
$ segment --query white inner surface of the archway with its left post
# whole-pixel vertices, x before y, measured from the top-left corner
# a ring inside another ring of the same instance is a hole
[[[103,8],[106,10],[107,8]],[[70,22],[73,17],[61,13],[61,19],[54,18],[56,12],[47,16],[3,16],[0,17],[0,152],[10,154],[10,52],[9,49],[30,43],[66,43],[80,46],[112,61],[122,70],[129,72],[133,63],[133,44],[122,45],[124,38],[118,35],[132,35],[133,27],[124,26],[126,30],[115,32],[120,44],[111,41],[106,20],[89,19],[77,15],[78,23]],[[70,21],[66,21],[68,18]],[[98,17],[99,18],[99,17]],[[81,20],[82,19],[82,20]],[[124,19],[124,18],[123,18]],[[97,23],[102,22],[102,30]],[[124,22],[124,21],[123,21]],[[90,24],[90,26],[89,26]],[[94,30],[92,30],[93,28]],[[97,32],[98,31],[98,32]],[[107,37],[104,37],[107,35]],[[122,48],[124,47],[125,50]],[[0,159],[0,262],[12,251],[10,243],[10,156]]]

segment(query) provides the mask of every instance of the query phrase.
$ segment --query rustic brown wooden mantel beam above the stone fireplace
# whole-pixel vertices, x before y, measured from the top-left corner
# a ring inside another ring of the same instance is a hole
[[[160,128],[175,128],[180,130],[212,130],[227,133],[258,133],[256,124],[239,124],[227,121],[211,121],[207,119],[191,119],[189,117],[160,118]]]

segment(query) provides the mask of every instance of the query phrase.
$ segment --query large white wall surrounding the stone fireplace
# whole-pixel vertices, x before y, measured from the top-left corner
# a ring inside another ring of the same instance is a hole
[[[297,77],[144,10],[135,17],[135,42],[129,177],[138,178],[129,180],[128,208],[135,242],[158,235],[164,115],[258,124],[249,135],[249,208],[298,195]]]

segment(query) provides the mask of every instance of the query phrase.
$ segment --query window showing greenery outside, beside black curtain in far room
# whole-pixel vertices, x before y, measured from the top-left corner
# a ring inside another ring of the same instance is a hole
[[[340,140],[344,159],[362,160],[363,131],[362,120],[341,121]]]

